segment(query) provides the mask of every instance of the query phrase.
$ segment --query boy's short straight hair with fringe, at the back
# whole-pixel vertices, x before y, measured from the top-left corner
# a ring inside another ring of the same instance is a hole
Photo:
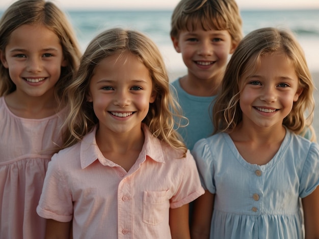
[[[226,30],[234,43],[243,38],[242,17],[234,0],[181,0],[171,18],[171,37],[193,31],[200,23],[205,31]]]

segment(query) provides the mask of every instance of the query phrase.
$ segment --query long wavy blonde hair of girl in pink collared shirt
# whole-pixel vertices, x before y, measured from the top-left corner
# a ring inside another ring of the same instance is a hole
[[[187,148],[174,130],[174,118],[181,119],[183,116],[180,113],[180,106],[170,94],[170,84],[161,53],[153,41],[145,35],[121,28],[104,31],[89,43],[74,81],[66,88],[64,97],[67,98],[69,105],[69,115],[66,120],[69,132],[64,147],[81,141],[84,135],[98,124],[92,102],[87,101],[94,68],[105,57],[125,52],[137,56],[149,69],[153,90],[156,92],[155,102],[150,104],[143,123],[149,127],[155,137],[176,149],[183,150],[185,156]]]

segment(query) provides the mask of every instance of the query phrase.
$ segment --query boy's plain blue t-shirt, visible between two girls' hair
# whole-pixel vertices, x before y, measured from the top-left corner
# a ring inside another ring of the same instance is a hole
[[[189,119],[189,125],[177,131],[183,137],[186,146],[192,150],[199,139],[209,137],[214,131],[211,112],[216,96],[190,95],[182,89],[179,79],[175,80],[172,85],[176,89],[177,100],[183,110],[183,116]],[[176,95],[174,90],[172,94]]]

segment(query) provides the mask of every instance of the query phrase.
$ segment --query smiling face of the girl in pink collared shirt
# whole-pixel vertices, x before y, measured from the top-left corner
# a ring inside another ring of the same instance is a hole
[[[154,100],[149,70],[137,56],[114,54],[95,67],[88,101],[93,102],[99,130],[117,134],[141,131]]]

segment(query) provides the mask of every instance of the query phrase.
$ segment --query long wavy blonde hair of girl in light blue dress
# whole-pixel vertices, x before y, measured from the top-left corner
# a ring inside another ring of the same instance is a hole
[[[311,141],[315,141],[312,119],[314,111],[314,84],[302,47],[293,33],[287,29],[265,27],[249,33],[238,44],[226,68],[220,93],[213,108],[216,132],[231,132],[242,121],[240,108],[240,81],[248,71],[260,66],[263,55],[283,52],[293,65],[299,87],[303,89],[293,109],[283,119],[283,125],[296,134],[304,135],[311,131]]]

